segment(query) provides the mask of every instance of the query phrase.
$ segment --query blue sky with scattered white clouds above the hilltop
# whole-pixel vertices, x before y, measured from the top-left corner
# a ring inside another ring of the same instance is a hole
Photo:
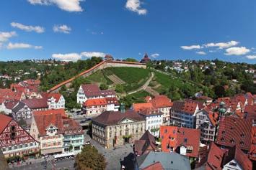
[[[256,63],[254,0],[1,0],[0,60]]]

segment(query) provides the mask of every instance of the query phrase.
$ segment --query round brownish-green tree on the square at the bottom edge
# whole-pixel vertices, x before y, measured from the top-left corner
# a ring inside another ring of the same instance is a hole
[[[104,156],[99,154],[97,149],[91,145],[84,146],[81,153],[78,154],[75,159],[75,168],[77,170],[104,170],[106,166]]]

